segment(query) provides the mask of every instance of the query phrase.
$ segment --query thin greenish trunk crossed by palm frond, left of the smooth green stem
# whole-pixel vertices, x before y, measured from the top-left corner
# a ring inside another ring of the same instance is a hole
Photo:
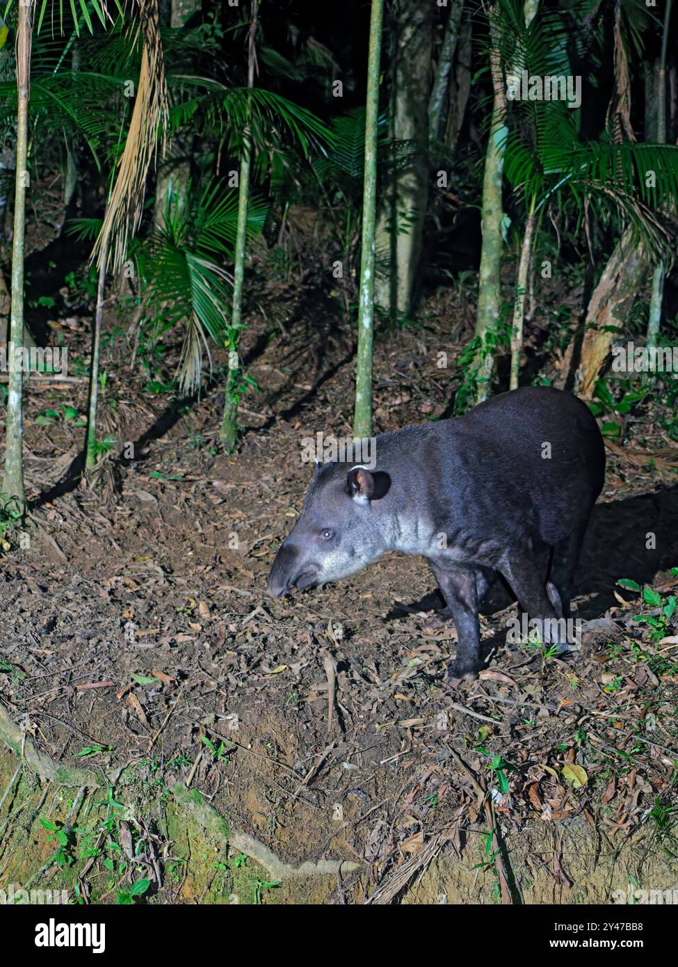
[[[248,87],[250,89],[254,86],[254,68],[256,65],[254,41],[258,7],[259,0],[252,0],[248,50]],[[233,307],[229,324],[228,376],[223,400],[220,434],[221,446],[227,454],[232,454],[238,443],[238,397],[242,375],[238,351],[243,314],[243,278],[245,277],[248,204],[250,201],[251,152],[251,126],[248,121],[245,132],[243,132],[243,155],[240,160],[238,180],[238,231],[235,240],[235,264],[233,268]]]

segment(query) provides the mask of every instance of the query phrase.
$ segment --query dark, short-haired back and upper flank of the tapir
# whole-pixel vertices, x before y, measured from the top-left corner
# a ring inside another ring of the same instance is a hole
[[[377,466],[397,467],[396,480],[426,503],[436,524],[463,517],[500,542],[562,540],[586,521],[604,483],[595,419],[576,396],[551,387],[492,396],[456,420],[408,426],[377,441]]]

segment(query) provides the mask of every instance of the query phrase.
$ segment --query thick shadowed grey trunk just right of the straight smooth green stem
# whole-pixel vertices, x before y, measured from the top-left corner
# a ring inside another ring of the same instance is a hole
[[[399,0],[396,9],[395,72],[392,82],[393,138],[410,142],[411,155],[398,164],[377,227],[376,248],[388,256],[388,275],[375,279],[375,302],[407,314],[412,308],[428,199],[428,78],[432,49],[430,5]]]

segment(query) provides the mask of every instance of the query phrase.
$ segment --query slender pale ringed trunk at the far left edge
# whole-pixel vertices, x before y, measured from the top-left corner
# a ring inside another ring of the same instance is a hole
[[[22,0],[18,8],[16,28],[16,93],[18,112],[16,125],[15,234],[12,243],[12,314],[10,343],[16,350],[23,345],[23,256],[24,220],[28,175],[28,99],[31,75],[31,41],[33,28],[32,0]],[[8,347],[9,348],[9,347]],[[8,353],[8,356],[10,354]],[[14,362],[14,361],[12,361]],[[20,363],[10,363],[7,429],[5,443],[5,477],[3,492],[23,505],[23,466],[21,462],[23,373]]]

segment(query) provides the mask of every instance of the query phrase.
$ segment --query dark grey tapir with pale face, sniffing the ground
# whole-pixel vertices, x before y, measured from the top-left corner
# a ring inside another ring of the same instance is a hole
[[[530,619],[553,627],[570,616],[575,567],[604,484],[603,438],[584,402],[522,387],[374,444],[369,466],[316,462],[271,568],[274,598],[360,571],[388,549],[420,554],[457,628],[445,674],[451,688],[478,677],[478,606],[496,572]]]

